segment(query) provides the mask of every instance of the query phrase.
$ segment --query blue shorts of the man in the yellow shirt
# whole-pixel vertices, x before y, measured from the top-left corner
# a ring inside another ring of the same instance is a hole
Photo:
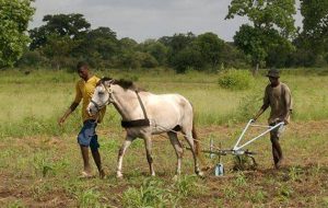
[[[78,143],[83,147],[90,147],[91,150],[99,148],[98,137],[95,134],[97,123],[94,119],[89,119],[83,123],[83,127],[78,136]]]

